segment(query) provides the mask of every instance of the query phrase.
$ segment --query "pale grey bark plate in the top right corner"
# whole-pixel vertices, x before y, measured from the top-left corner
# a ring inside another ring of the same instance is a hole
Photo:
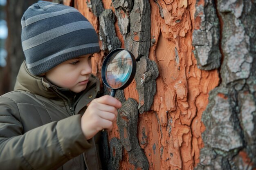
[[[253,56],[255,57],[255,2],[219,1],[218,10],[223,20],[222,83],[227,85],[250,75]],[[241,83],[239,83],[241,84]]]

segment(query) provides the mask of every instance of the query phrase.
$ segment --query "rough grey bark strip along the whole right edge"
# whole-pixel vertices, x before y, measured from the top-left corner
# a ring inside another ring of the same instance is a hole
[[[207,9],[207,3],[198,9]],[[256,168],[256,2],[218,0],[222,82],[210,93],[202,121],[204,148],[197,170]],[[253,21],[254,20],[254,21]]]

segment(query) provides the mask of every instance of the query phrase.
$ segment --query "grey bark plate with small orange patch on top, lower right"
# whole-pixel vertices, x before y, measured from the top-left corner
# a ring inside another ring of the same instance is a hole
[[[202,116],[207,127],[203,133],[205,143],[211,148],[226,152],[243,146],[240,132],[234,128],[239,124],[229,101],[232,93],[234,91],[229,91],[228,88],[216,88],[211,91],[207,110]]]

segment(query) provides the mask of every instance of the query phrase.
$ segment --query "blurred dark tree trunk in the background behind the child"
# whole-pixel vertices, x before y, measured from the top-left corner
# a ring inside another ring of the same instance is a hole
[[[20,39],[20,20],[25,10],[27,10],[31,4],[36,2],[38,2],[38,0],[7,0],[7,66],[0,70],[2,72],[0,73],[2,74],[2,80],[0,82],[0,95],[13,91],[20,65],[23,60],[25,60]]]

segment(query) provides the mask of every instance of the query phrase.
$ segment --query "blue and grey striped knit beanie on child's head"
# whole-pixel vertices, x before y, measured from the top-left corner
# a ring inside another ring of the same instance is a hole
[[[75,8],[48,1],[31,5],[21,19],[27,68],[40,75],[66,60],[99,52],[92,24]]]

